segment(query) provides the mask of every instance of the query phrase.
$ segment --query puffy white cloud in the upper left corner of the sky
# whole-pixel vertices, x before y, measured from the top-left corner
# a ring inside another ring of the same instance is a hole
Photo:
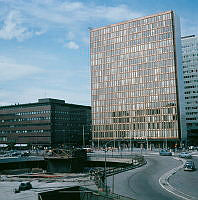
[[[16,38],[19,41],[31,36],[28,28],[22,25],[22,18],[17,11],[10,11],[4,20],[3,27],[0,29],[0,38],[11,40]]]

